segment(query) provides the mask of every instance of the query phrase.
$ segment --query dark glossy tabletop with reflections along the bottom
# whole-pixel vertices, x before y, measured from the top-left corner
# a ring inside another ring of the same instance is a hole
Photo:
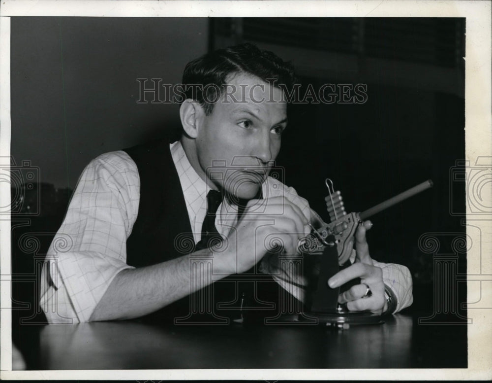
[[[465,368],[466,325],[162,326],[138,321],[22,326],[28,369]]]

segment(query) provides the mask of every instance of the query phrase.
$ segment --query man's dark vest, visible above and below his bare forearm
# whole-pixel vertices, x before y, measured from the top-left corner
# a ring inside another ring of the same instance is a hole
[[[124,151],[137,165],[140,177],[138,215],[126,241],[126,263],[134,267],[144,267],[191,253],[194,249],[194,239],[169,142],[161,140]],[[251,318],[275,316],[278,309],[279,286],[271,277],[264,275],[258,277],[260,281],[256,278],[255,282],[255,277],[251,278],[254,274],[254,270],[250,270],[216,281],[212,286],[184,297],[145,318],[159,322],[181,318],[179,320],[184,323],[222,323],[226,321],[220,318],[239,317],[240,306],[250,307],[246,311]],[[213,290],[210,290],[212,288]],[[205,310],[207,313],[196,313],[193,310],[193,313],[190,313],[193,302],[201,302],[200,299],[203,301],[203,297],[212,292],[214,299],[212,302],[209,300],[207,304],[212,304],[213,307]],[[222,304],[218,308],[217,304],[220,302]],[[270,310],[265,310],[267,308]],[[245,311],[242,310],[241,313]]]

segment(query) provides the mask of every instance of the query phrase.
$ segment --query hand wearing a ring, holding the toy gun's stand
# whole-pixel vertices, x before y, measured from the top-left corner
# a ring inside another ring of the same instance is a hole
[[[346,303],[350,311],[369,310],[372,313],[381,314],[386,310],[387,304],[384,297],[383,272],[379,267],[373,266],[366,241],[366,231],[371,227],[370,221],[359,225],[355,233],[355,262],[330,278],[328,284],[336,288],[349,280],[360,278],[361,284],[352,286],[341,293],[338,296],[338,303]],[[367,290],[366,285],[372,292],[370,297],[363,297]]]

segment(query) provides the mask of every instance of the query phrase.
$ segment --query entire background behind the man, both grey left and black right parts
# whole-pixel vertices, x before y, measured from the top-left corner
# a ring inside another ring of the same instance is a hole
[[[35,259],[42,261],[92,158],[179,129],[178,105],[137,104],[137,78],[178,83],[189,60],[251,41],[291,60],[304,87],[367,84],[364,104],[289,110],[277,164],[285,168],[286,183],[326,220],[326,177],[350,211],[434,181],[430,191],[374,216],[369,233],[371,255],[407,265],[414,305],[429,307],[432,256],[418,239],[464,232],[463,217],[449,212],[450,204],[464,211],[464,189],[450,200],[449,176],[464,158],[463,36],[462,19],[13,17],[11,155],[18,165],[30,160],[38,167],[40,181],[23,189],[24,205],[12,217],[14,273],[36,276]],[[19,242],[26,232],[40,237],[35,251]],[[464,254],[459,266],[465,270]],[[32,302],[32,289],[14,284],[17,301]]]

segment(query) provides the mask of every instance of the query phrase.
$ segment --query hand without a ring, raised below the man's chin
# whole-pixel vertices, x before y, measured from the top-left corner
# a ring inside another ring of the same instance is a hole
[[[301,209],[285,196],[250,200],[236,230],[227,238],[229,245],[222,259],[229,262],[228,273],[249,270],[269,252],[299,253],[299,241],[310,233],[307,223]],[[274,238],[279,241],[272,241]]]

